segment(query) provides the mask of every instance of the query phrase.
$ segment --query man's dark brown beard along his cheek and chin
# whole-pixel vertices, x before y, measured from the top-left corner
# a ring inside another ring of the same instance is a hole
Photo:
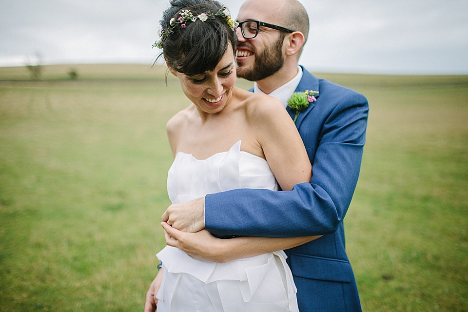
[[[251,68],[237,68],[237,77],[250,81],[258,81],[272,76],[283,67],[284,58],[282,53],[283,40],[285,35],[280,34],[278,40],[268,46],[259,54],[255,53],[255,61]],[[238,46],[241,46],[239,43]]]

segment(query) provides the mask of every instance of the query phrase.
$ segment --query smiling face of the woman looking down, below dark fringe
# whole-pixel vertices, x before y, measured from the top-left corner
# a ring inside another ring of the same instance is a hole
[[[179,79],[185,96],[189,98],[201,112],[218,113],[232,97],[236,79],[235,61],[231,43],[213,71],[200,75],[187,76],[169,68]]]

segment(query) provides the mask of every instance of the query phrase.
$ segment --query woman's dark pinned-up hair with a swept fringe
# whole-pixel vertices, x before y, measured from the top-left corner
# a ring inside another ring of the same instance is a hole
[[[196,17],[201,13],[222,12],[225,6],[215,0],[171,0],[160,20],[162,29],[168,29],[170,20],[189,10]],[[216,16],[204,22],[189,20],[186,27],[174,27],[173,32],[162,41],[164,59],[174,70],[188,76],[195,76],[215,69],[223,57],[228,42],[233,51],[237,35],[224,16]]]

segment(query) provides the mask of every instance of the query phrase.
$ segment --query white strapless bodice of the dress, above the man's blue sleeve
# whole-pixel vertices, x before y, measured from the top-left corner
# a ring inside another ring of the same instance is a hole
[[[173,204],[207,194],[240,188],[278,190],[267,161],[240,150],[241,141],[227,152],[206,159],[179,152],[169,169],[167,193]]]

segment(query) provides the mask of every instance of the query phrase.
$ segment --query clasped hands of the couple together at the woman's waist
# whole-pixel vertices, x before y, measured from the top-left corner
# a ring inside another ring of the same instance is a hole
[[[194,259],[225,262],[222,239],[205,230],[204,204],[198,198],[169,206],[161,216],[166,244]]]

